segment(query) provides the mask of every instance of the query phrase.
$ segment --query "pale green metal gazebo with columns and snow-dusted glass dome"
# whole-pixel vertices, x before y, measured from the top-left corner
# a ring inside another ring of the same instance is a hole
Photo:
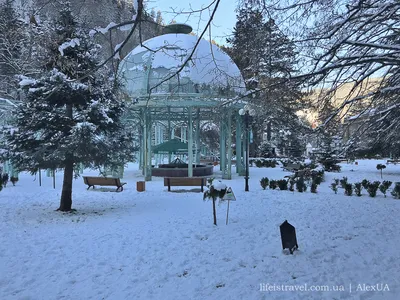
[[[149,39],[126,55],[119,76],[127,98],[127,121],[140,120],[139,165],[151,180],[153,150],[176,138],[187,142],[188,176],[200,163],[200,127],[212,122],[220,133],[223,178],[232,176],[232,146],[237,172],[244,175],[243,78],[231,58],[216,45],[189,34],[184,24],[166,27],[165,34]],[[236,141],[232,141],[236,127]]]

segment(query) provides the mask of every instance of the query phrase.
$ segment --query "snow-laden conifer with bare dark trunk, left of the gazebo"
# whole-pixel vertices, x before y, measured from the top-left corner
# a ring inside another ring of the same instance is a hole
[[[121,166],[132,159],[133,143],[121,124],[124,103],[112,72],[97,70],[100,47],[79,29],[68,5],[52,33],[41,76],[21,77],[27,98],[6,138],[17,169],[64,169],[58,210],[70,211],[74,168]]]

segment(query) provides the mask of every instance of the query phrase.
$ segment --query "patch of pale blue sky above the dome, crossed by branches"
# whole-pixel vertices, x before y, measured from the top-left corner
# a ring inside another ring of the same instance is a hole
[[[204,11],[202,15],[194,13],[191,16],[187,14],[176,16],[173,10],[189,12],[206,7],[211,2],[212,0],[147,0],[147,9],[149,11],[152,8],[156,11],[160,10],[166,23],[175,19],[178,23],[189,24],[193,27],[195,33],[200,34],[204,30],[212,10]],[[219,44],[225,44],[226,37],[232,34],[233,27],[236,24],[236,5],[236,0],[221,0],[218,6],[211,27],[211,35]],[[209,39],[209,34],[205,38]]]

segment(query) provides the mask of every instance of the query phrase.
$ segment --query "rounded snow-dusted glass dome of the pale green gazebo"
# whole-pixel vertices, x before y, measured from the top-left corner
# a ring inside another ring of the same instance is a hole
[[[131,97],[152,94],[198,94],[232,98],[245,92],[238,67],[216,45],[182,33],[157,36],[133,49],[122,61],[120,78]],[[167,80],[169,77],[173,78]]]

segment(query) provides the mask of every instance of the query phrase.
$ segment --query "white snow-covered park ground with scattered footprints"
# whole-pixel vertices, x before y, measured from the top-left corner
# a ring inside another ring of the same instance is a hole
[[[251,168],[250,192],[243,177],[223,181],[237,201],[228,225],[227,204],[217,207],[218,226],[202,193],[167,192],[161,178],[137,192],[134,164],[121,193],[75,180],[76,213],[55,211],[61,173],[56,189],[45,174],[41,187],[20,174],[0,192],[0,299],[400,299],[400,201],[329,189],[335,177],[381,180],[382,162],[342,164],[318,194],[264,191],[261,177],[288,173]],[[400,165],[384,179],[400,181]],[[294,255],[282,251],[286,219]]]

